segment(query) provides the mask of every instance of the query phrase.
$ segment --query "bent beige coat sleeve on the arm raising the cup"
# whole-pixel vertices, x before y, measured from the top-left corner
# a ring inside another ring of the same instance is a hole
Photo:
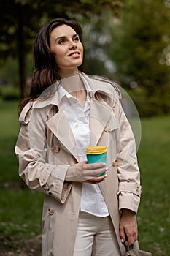
[[[28,103],[20,115],[21,127],[15,146],[19,175],[29,188],[65,203],[72,187],[72,183],[65,181],[69,165],[48,163],[45,113],[41,112]]]

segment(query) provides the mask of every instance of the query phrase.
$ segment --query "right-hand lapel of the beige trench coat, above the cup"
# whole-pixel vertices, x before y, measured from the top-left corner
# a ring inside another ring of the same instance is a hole
[[[111,116],[111,108],[96,99],[91,99],[90,105],[90,144],[97,145],[101,134]]]

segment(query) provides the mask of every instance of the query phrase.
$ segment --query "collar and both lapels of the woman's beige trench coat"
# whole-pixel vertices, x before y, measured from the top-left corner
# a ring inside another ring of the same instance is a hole
[[[106,127],[107,121],[111,115],[111,107],[96,100],[94,95],[97,91],[109,95],[110,91],[107,89],[107,86],[104,88],[104,90],[98,88],[96,83],[88,78],[87,75],[83,75],[83,77],[88,81],[88,84],[92,89],[92,97],[90,101],[90,144],[97,145],[98,140],[104,131],[104,127]],[[58,84],[54,84],[55,93],[52,97],[47,100],[35,102],[33,108],[44,108],[47,105],[58,106],[58,112],[47,121],[47,127],[53,132],[58,140],[60,140],[66,150],[68,150],[74,156],[74,158],[77,159],[77,162],[80,162],[72,129],[64,116],[63,110],[60,109],[60,99],[57,86]]]

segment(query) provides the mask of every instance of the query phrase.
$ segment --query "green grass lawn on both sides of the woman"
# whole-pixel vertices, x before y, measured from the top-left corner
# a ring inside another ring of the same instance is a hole
[[[14,154],[19,130],[17,103],[0,101],[0,118],[0,256],[7,251],[18,255],[20,247],[41,233],[42,195],[21,189],[23,183],[18,177]],[[137,215],[139,244],[153,256],[169,255],[170,251],[169,130],[170,116],[142,119],[142,141],[138,151],[142,180]],[[36,241],[28,252],[20,255],[40,255]]]

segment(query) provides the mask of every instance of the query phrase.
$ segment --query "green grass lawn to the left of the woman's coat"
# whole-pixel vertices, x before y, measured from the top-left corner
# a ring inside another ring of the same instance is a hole
[[[0,252],[4,246],[17,251],[24,244],[18,241],[41,233],[42,194],[21,189],[23,181],[18,176],[17,108],[18,102],[0,101]]]

